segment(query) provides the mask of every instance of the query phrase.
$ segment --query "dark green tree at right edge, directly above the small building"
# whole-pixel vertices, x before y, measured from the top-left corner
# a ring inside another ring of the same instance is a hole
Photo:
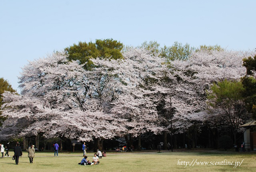
[[[246,67],[246,76],[241,81],[245,88],[246,108],[253,118],[256,119],[256,55],[253,58],[244,58],[243,66]]]

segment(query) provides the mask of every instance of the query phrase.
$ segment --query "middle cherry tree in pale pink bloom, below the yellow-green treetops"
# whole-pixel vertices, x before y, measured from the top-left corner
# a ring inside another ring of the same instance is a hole
[[[162,91],[160,78],[166,74],[163,59],[152,56],[149,50],[130,48],[123,53],[121,60],[92,60],[98,67],[95,71],[106,72],[113,78],[114,94],[111,113],[122,120],[126,131],[128,145],[132,145],[133,137],[144,132],[158,133],[154,94]]]

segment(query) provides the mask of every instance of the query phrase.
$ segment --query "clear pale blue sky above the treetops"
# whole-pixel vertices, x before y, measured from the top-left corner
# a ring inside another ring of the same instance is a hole
[[[256,48],[256,0],[0,0],[0,78],[79,41]]]

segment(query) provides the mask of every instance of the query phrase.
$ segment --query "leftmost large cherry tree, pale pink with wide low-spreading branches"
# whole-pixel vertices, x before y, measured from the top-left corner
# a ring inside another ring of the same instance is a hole
[[[23,68],[19,77],[22,95],[4,94],[3,115],[8,121],[2,131],[10,129],[6,136],[42,133],[46,137],[92,140],[112,138],[122,128],[114,125],[112,115],[92,96],[94,87],[82,65],[68,62],[66,57],[64,52],[56,52]]]

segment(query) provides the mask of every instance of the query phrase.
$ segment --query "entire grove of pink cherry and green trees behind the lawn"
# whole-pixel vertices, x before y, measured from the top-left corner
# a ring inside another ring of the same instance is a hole
[[[255,118],[255,60],[218,45],[78,42],[24,66],[20,95],[0,78],[0,135],[24,149],[226,149]]]

